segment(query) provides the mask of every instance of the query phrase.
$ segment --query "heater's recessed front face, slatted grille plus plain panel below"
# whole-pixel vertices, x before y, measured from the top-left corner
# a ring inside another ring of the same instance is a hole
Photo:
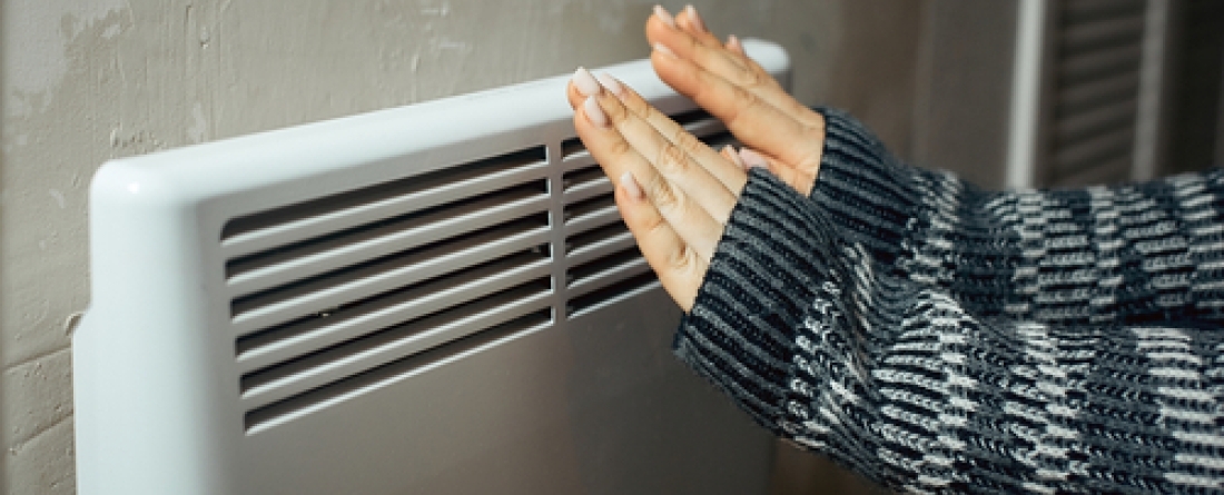
[[[672,356],[611,181],[568,121],[530,131],[225,224],[244,491],[765,489],[770,438]]]

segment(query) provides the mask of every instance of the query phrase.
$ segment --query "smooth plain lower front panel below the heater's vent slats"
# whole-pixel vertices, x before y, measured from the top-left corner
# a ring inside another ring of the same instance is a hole
[[[268,428],[248,439],[242,486],[764,493],[772,441],[671,354],[677,319],[650,290]]]

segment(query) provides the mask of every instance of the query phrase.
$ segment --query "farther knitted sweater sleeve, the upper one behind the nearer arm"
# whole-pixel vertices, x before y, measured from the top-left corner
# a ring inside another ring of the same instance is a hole
[[[881,270],[966,309],[1058,325],[1224,324],[1224,172],[1122,187],[983,191],[901,164],[849,115],[820,109],[812,200]]]

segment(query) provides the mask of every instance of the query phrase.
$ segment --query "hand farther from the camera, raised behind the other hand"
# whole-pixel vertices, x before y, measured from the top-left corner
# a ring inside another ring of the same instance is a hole
[[[646,21],[655,72],[692,98],[752,152],[749,165],[765,165],[807,196],[815,183],[824,150],[825,120],[782,89],[749,59],[736,37],[711,34],[693,6],[674,17],[660,6]]]

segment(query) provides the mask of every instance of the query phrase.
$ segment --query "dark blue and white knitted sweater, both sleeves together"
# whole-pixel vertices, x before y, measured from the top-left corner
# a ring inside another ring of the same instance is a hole
[[[1224,490],[1224,172],[985,192],[823,112],[810,198],[750,174],[682,359],[903,491]]]

